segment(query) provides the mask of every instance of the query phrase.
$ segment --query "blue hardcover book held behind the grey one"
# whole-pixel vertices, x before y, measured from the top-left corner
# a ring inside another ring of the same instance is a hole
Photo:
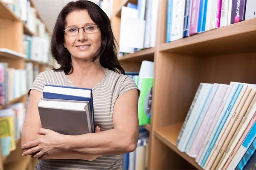
[[[74,90],[77,91],[74,94]],[[50,91],[54,91],[50,92]],[[76,101],[87,101],[90,103],[90,111],[93,123],[93,132],[95,132],[95,121],[94,121],[94,109],[93,109],[93,91],[90,88],[77,88],[69,86],[58,86],[58,85],[44,85],[43,97],[45,99],[63,99],[63,100],[76,100]]]

